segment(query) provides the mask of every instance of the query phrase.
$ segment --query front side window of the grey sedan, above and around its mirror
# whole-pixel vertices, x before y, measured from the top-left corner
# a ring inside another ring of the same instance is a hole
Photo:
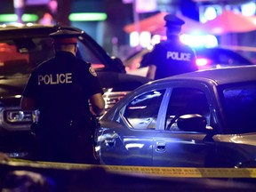
[[[204,116],[209,125],[210,108],[204,92],[194,88],[174,88],[168,103],[165,130],[180,131],[175,121],[188,114]]]

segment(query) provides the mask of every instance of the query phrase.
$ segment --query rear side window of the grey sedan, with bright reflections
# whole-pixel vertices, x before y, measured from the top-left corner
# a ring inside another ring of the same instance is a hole
[[[124,109],[124,118],[134,129],[156,129],[156,119],[165,90],[147,92]]]

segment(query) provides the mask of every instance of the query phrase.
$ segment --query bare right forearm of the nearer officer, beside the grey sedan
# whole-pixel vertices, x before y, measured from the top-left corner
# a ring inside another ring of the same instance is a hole
[[[92,104],[92,111],[96,116],[102,116],[105,112],[105,100],[103,99],[101,93],[92,95],[90,98],[90,103]]]

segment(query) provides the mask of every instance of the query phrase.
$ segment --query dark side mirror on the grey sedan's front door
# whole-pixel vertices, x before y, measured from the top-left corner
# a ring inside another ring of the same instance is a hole
[[[180,130],[185,132],[207,132],[206,118],[199,114],[188,114],[180,116],[177,119],[177,125]]]

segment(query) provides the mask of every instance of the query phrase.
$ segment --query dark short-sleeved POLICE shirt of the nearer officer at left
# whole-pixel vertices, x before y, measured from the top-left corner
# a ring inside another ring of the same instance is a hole
[[[36,100],[39,122],[68,123],[91,115],[88,100],[96,93],[103,94],[91,64],[70,52],[57,52],[32,72],[23,95]]]

